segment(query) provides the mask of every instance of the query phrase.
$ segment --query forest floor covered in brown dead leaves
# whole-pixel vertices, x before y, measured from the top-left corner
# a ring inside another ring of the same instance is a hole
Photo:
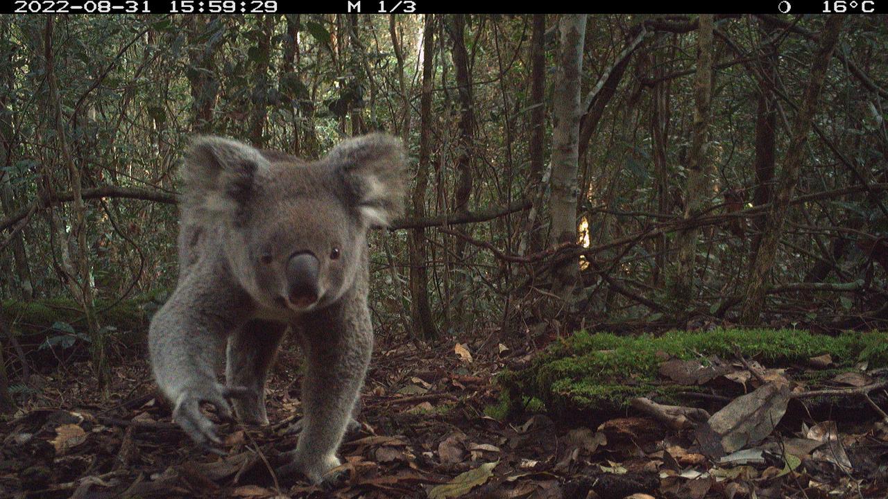
[[[721,459],[706,455],[691,426],[670,429],[631,408],[558,422],[486,416],[499,396],[493,376],[536,350],[527,338],[509,345],[379,338],[361,430],[340,448],[339,478],[320,487],[273,471],[297,440],[288,432],[299,413],[293,345],[270,379],[271,424],[222,424],[224,455],[195,447],[170,422],[145,360],[114,368],[110,401],[101,400],[87,364],[62,363],[32,375],[39,392],[0,422],[0,497],[888,496],[888,418],[865,405],[783,417],[757,445]],[[712,398],[716,408],[730,401]]]

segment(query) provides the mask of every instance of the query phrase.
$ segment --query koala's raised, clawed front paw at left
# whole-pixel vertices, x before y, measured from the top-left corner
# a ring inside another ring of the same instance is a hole
[[[176,398],[176,408],[172,411],[172,418],[186,434],[197,444],[207,446],[209,442],[219,443],[216,434],[216,424],[201,411],[203,402],[212,404],[218,416],[230,420],[230,398],[242,398],[249,395],[249,389],[243,387],[225,387],[218,383],[204,385],[195,384],[179,393]]]

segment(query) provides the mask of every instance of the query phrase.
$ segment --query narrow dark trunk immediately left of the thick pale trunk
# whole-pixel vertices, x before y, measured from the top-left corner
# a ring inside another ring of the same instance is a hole
[[[546,58],[545,28],[546,15],[534,14],[533,31],[530,36],[530,172],[527,191],[537,193],[534,206],[527,213],[524,231],[521,234],[518,252],[520,255],[535,253],[543,249],[543,234],[538,222],[539,211],[543,208],[543,140],[545,139],[545,97]]]

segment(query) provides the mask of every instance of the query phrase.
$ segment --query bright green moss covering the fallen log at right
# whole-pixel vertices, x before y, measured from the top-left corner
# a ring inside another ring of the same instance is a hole
[[[870,367],[888,365],[888,334],[830,337],[796,329],[714,329],[619,337],[580,331],[551,346],[529,368],[504,371],[497,380],[504,388],[503,400],[538,398],[556,414],[620,410],[634,397],[648,396],[670,403],[678,392],[699,389],[658,379],[664,357],[689,360],[717,355],[733,359],[736,352],[766,366],[787,366],[829,353],[840,372],[860,360],[867,360]],[[491,410],[502,415],[522,407],[501,400]]]

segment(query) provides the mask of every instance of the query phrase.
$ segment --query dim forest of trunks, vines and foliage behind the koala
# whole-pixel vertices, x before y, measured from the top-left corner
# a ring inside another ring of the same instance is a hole
[[[195,134],[403,139],[384,348],[885,329],[884,16],[578,17],[0,17],[0,406],[144,352]]]

